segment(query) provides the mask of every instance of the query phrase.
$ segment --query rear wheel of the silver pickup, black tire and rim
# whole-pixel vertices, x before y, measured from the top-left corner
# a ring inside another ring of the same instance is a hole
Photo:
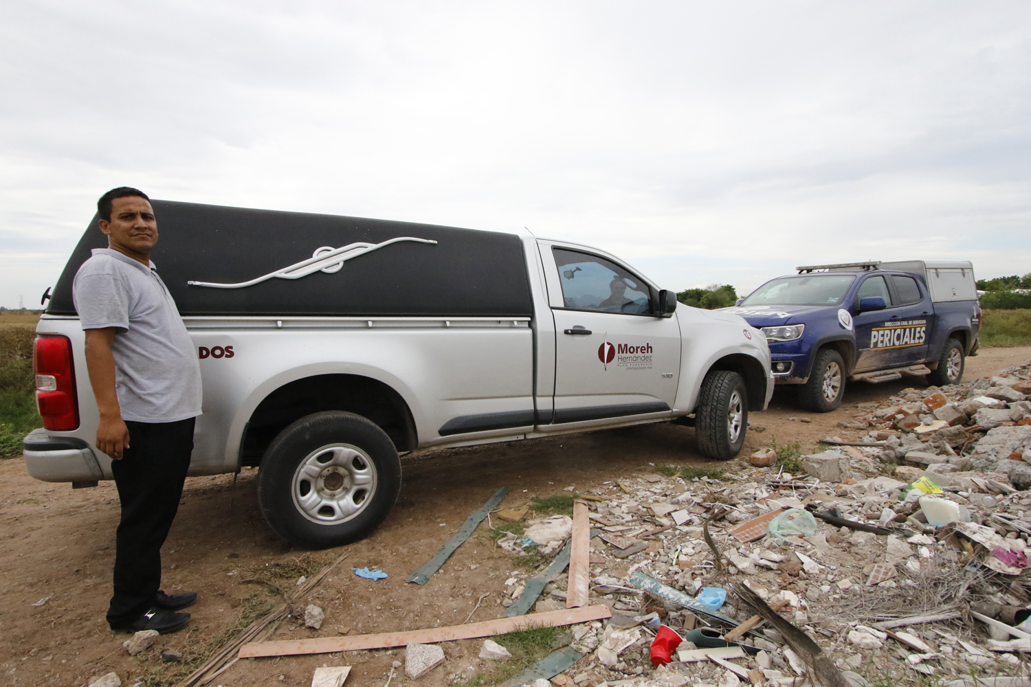
[[[258,504],[287,541],[326,549],[364,539],[401,490],[397,448],[354,413],[302,417],[279,433],[258,471]]]

